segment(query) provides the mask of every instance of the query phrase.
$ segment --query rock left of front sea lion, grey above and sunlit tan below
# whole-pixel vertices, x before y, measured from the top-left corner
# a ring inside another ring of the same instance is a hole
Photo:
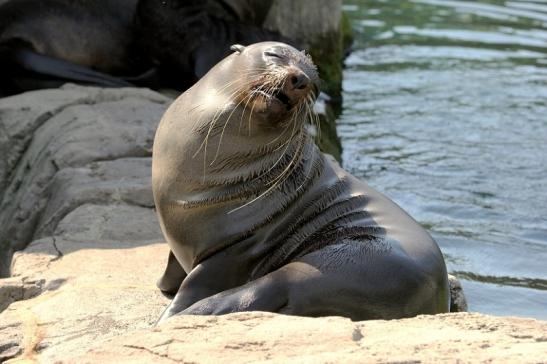
[[[76,86],[0,100],[0,250],[32,241],[0,280],[0,362],[83,352],[166,306],[150,174],[169,102]]]

